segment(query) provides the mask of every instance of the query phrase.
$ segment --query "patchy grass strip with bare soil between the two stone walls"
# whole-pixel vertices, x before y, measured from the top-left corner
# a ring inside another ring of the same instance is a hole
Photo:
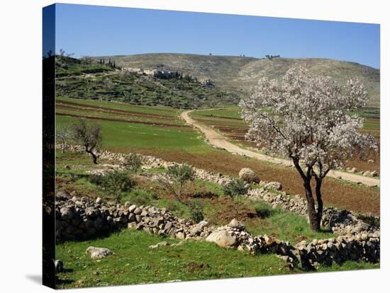
[[[101,161],[108,163],[108,161]],[[112,161],[109,163],[113,163]],[[67,166],[67,168],[65,168]],[[70,169],[69,169],[70,168]],[[92,163],[86,154],[58,153],[57,154],[57,190],[66,190],[79,196],[106,197],[104,192],[94,183],[91,183],[87,170],[99,168]],[[132,202],[136,205],[154,205],[165,207],[177,217],[191,218],[187,205],[178,202],[174,195],[167,193],[163,186],[150,180],[147,174],[165,172],[164,168],[150,169],[137,176],[138,187],[122,198],[122,203]],[[254,235],[268,234],[279,239],[296,243],[302,240],[327,239],[335,235],[329,231],[319,233],[309,229],[306,217],[274,209],[265,202],[252,202],[241,199],[239,205],[223,194],[221,185],[201,180],[189,183],[186,188],[185,200],[187,202],[200,202],[203,206],[205,219],[213,225],[228,224],[231,219],[237,218],[244,222],[248,231]],[[238,207],[239,214],[235,213]]]

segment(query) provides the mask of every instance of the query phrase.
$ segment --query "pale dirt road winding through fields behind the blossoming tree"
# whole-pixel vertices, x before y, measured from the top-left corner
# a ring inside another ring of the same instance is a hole
[[[224,137],[222,134],[216,132],[215,130],[211,129],[210,127],[207,127],[206,125],[201,125],[199,122],[196,122],[194,119],[189,117],[189,113],[191,113],[192,111],[193,110],[184,111],[180,116],[182,117],[182,119],[184,119],[184,121],[186,121],[187,124],[193,125],[194,127],[201,130],[201,132],[204,133],[204,135],[206,136],[206,139],[208,139],[208,142],[212,146],[226,149],[227,151],[230,151],[230,153],[233,153],[233,154],[250,156],[250,157],[255,158],[255,159],[259,159],[262,161],[268,161],[268,162],[272,162],[272,163],[277,163],[279,165],[292,166],[291,160],[279,159],[279,158],[274,158],[272,156],[259,154],[259,153],[256,153],[255,151],[243,149],[240,146],[236,146],[235,144],[232,144],[231,142],[229,142],[228,138]],[[355,183],[362,183],[362,184],[368,185],[368,186],[379,186],[379,179],[378,178],[362,176],[359,174],[353,174],[353,173],[332,170],[328,173],[328,176],[333,177],[333,178],[341,178],[342,180],[347,180],[347,181],[351,181],[351,182],[355,182]]]

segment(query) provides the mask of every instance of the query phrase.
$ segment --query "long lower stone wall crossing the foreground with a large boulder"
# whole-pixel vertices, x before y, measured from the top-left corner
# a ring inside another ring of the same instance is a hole
[[[252,236],[245,226],[233,219],[225,226],[209,226],[175,217],[169,210],[152,206],[116,205],[87,197],[72,197],[60,192],[56,198],[57,242],[86,240],[111,231],[138,229],[151,234],[182,240],[211,241],[225,248],[237,248],[251,253],[277,253],[291,266],[300,263],[305,268],[320,264],[342,263],[345,260],[379,262],[380,241],[374,233],[339,236],[296,246],[267,235]]]

